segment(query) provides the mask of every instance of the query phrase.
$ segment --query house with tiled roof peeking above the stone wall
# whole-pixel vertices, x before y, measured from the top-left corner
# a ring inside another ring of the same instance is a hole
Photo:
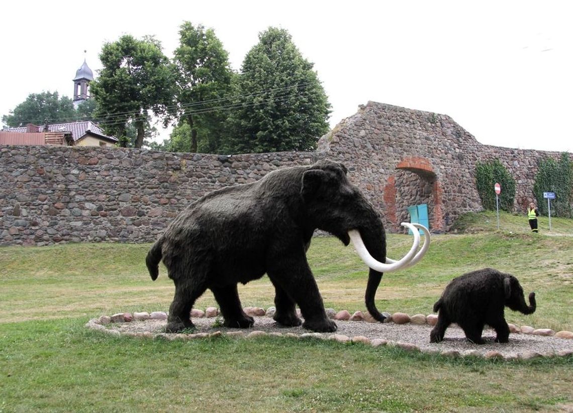
[[[103,129],[92,121],[50,124],[48,125],[48,130],[45,129],[45,125],[37,126],[33,124],[20,128],[2,129],[0,131],[0,144],[69,146],[113,146],[117,144],[115,136],[107,136]],[[43,135],[43,137],[40,135]]]

